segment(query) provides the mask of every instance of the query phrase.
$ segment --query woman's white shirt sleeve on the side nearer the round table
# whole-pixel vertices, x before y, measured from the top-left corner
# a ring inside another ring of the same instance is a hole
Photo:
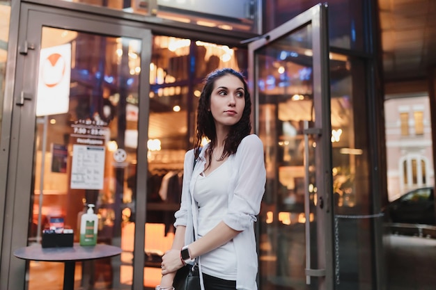
[[[187,215],[188,211],[191,211],[190,208],[190,198],[189,194],[189,181],[192,177],[192,166],[194,164],[194,150],[189,150],[185,153],[185,161],[183,163],[183,182],[182,182],[182,198],[180,202],[180,209],[176,211],[174,217],[176,218],[176,222],[174,223],[174,227],[178,225],[187,225]]]

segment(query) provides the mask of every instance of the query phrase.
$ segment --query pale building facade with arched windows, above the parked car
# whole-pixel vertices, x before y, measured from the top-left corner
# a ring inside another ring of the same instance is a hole
[[[384,103],[389,200],[435,184],[430,113],[428,96],[388,98]]]

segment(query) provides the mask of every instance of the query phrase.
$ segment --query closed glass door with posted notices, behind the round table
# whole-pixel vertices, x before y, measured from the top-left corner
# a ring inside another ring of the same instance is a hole
[[[81,215],[94,204],[97,243],[123,252],[76,263],[75,289],[143,289],[132,285],[143,280],[144,226],[134,222],[145,224],[146,181],[136,177],[147,175],[151,33],[26,4],[22,19],[13,127],[24,169],[12,226],[24,230],[13,234],[11,252],[44,243],[49,229],[72,231],[79,243]],[[9,288],[23,289],[23,277],[25,289],[60,288],[62,265],[30,261],[24,270],[10,257]]]

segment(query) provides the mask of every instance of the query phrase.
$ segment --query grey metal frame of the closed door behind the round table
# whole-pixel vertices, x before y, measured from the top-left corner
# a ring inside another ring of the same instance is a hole
[[[139,144],[146,144],[148,136],[148,91],[152,33],[137,22],[77,13],[60,8],[48,8],[22,3],[20,27],[18,29],[18,51],[13,88],[13,108],[10,130],[10,152],[8,177],[6,179],[6,202],[3,222],[3,243],[1,244],[1,289],[24,289],[26,261],[13,256],[14,250],[27,245],[29,209],[31,207],[31,186],[33,175],[33,140],[35,136],[36,88],[42,27],[49,26],[86,33],[141,40],[141,70],[139,84]],[[21,103],[24,99],[24,104]],[[29,140],[32,140],[29,142]],[[137,174],[146,176],[147,148],[138,147]],[[146,180],[137,179],[138,191],[146,192]],[[137,195],[137,208],[146,208],[146,195]],[[24,211],[24,214],[23,214]],[[137,211],[137,224],[146,221],[145,211]],[[133,289],[143,289],[143,248],[145,227],[135,227]],[[8,238],[6,238],[8,237]],[[135,283],[136,282],[136,283]]]

